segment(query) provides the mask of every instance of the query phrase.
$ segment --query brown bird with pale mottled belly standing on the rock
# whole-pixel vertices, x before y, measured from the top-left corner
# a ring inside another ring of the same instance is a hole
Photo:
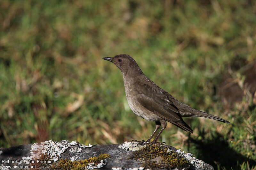
[[[166,121],[193,133],[193,130],[182,120],[182,117],[206,117],[229,123],[225,119],[189,107],[175,99],[145,76],[130,55],[120,54],[102,59],[114,63],[121,70],[126,98],[132,111],[143,119],[156,123],[156,129],[146,142],[143,140],[144,143],[150,143],[150,140],[162,125],[162,129],[150,144],[157,143],[156,140],[166,128]]]

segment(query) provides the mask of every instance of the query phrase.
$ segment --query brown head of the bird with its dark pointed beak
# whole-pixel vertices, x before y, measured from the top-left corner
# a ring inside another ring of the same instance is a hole
[[[128,72],[132,73],[132,72],[138,72],[138,71],[142,73],[142,71],[140,70],[140,67],[130,55],[120,54],[114,57],[104,57],[102,59],[114,63],[116,67],[118,67],[121,70],[123,74],[126,74]]]

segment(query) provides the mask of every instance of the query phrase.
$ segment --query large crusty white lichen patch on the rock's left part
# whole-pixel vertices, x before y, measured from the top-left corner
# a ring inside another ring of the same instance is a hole
[[[76,141],[69,142],[68,140],[63,140],[61,142],[53,142],[52,140],[48,140],[33,144],[30,149],[31,156],[22,157],[22,159],[26,159],[26,162],[29,162],[29,160],[40,159],[41,155],[43,154],[48,155],[54,162],[56,162],[61,157],[61,153],[65,152],[73,145],[78,145],[78,148],[80,149],[92,147],[91,144],[89,144],[89,146],[85,146]]]

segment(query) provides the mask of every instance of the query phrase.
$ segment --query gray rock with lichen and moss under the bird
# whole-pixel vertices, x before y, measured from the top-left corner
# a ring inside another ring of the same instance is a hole
[[[42,167],[42,169],[59,169],[61,167],[63,169],[71,169],[71,166],[72,168],[83,166],[83,168],[86,167],[85,169],[146,170],[147,168],[142,165],[152,168],[153,166],[147,165],[147,162],[151,161],[151,163],[156,163],[156,166],[152,169],[163,169],[163,167],[167,167],[162,166],[164,165],[163,162],[166,163],[165,157],[157,156],[157,153],[156,156],[152,155],[155,152],[150,153],[151,155],[149,156],[154,157],[151,160],[143,156],[138,158],[140,154],[149,153],[146,150],[143,151],[143,149],[154,148],[156,151],[160,151],[158,147],[164,150],[161,151],[161,154],[164,152],[164,154],[170,156],[171,153],[174,153],[186,163],[184,164],[186,167],[180,166],[172,169],[213,169],[211,165],[192,157],[191,153],[184,153],[169,145],[149,146],[146,144],[141,145],[137,142],[125,142],[124,144],[89,144],[86,146],[76,141],[69,142],[67,140],[61,142],[49,140],[42,143],[0,148],[0,168],[29,169]]]

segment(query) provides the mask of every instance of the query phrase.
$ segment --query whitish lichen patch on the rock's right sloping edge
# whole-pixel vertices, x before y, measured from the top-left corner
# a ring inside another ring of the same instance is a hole
[[[184,151],[181,152],[181,150],[176,151],[180,156],[182,156],[184,159],[186,159],[191,166],[196,170],[204,170],[204,165],[206,164],[204,161],[196,159],[195,157],[192,157],[192,153],[184,153]]]

